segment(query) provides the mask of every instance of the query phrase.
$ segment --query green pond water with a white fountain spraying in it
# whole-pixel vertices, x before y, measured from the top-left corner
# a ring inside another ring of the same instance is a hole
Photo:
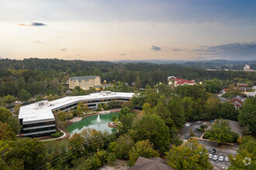
[[[117,131],[116,128],[108,127],[109,122],[111,122],[112,115],[116,115],[116,117],[118,117],[118,113],[99,114],[100,122],[97,121],[98,115],[85,117],[79,122],[68,125],[66,129],[71,136],[75,132],[77,134],[80,133],[85,128],[94,128],[97,131],[107,131],[109,134],[112,134]]]

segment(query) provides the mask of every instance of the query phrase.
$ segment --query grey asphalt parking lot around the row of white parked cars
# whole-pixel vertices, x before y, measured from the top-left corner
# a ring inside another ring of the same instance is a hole
[[[205,148],[208,150],[208,153],[212,151],[213,148],[215,148],[216,149],[215,155],[218,155],[219,157],[220,155],[223,155],[224,157],[228,155],[235,156],[237,154],[237,149],[238,149],[237,145],[227,145],[227,146],[219,147],[216,145],[216,142],[213,142],[213,141],[199,140],[199,144],[204,145]],[[220,162],[219,158],[216,161],[214,161],[213,158],[211,158],[209,159],[209,162],[213,164],[215,169],[228,168],[230,165],[230,162],[225,162],[224,160],[223,162]]]

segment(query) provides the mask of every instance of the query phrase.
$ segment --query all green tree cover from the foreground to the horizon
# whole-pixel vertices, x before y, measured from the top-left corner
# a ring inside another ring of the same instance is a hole
[[[61,59],[1,59],[0,68],[0,105],[5,107],[15,99],[27,101],[35,97],[43,100],[43,95],[47,95],[48,100],[63,97],[68,90],[66,81],[70,76],[98,75],[102,82],[106,80],[106,83],[113,84],[106,90],[135,92],[132,101],[121,103],[112,100],[99,107],[104,110],[122,108],[118,117],[112,117],[117,133],[86,128],[62,141],[18,138],[16,134],[21,127],[14,115],[19,113],[19,106],[14,108],[13,114],[9,109],[0,107],[0,169],[97,169],[106,162],[116,162],[117,158],[133,166],[139,156],[166,158],[167,164],[175,169],[212,169],[206,148],[196,140],[182,145],[178,136],[185,122],[199,120],[218,122],[211,131],[206,131],[203,138],[215,140],[220,145],[240,143],[236,157],[229,157],[230,169],[254,169],[256,166],[252,149],[256,141],[251,137],[256,134],[256,98],[247,97],[243,107],[236,110],[230,102],[222,103],[216,97],[223,87],[229,87],[227,93],[230,95],[240,94],[234,91],[235,83],[255,85],[255,73],[206,71],[176,64]],[[171,75],[194,79],[202,84],[171,89],[167,85],[167,77]],[[75,87],[71,95],[92,93],[94,90]],[[134,108],[141,111],[134,114]],[[65,130],[67,120],[91,112],[85,105],[78,104],[70,111],[58,112],[56,126]],[[240,122],[244,127],[243,138],[238,138],[230,130],[227,119]],[[204,128],[202,125],[198,131],[205,131]],[[54,136],[62,135],[58,133]],[[189,133],[192,137],[193,132]],[[198,156],[196,160],[195,155]],[[251,165],[244,165],[244,158],[251,158]]]

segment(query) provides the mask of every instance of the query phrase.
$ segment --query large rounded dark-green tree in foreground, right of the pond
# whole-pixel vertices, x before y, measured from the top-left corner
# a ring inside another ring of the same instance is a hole
[[[131,136],[135,141],[149,140],[154,144],[154,148],[159,149],[162,153],[170,145],[170,131],[161,117],[153,114],[144,116],[134,122],[133,129],[130,130]]]

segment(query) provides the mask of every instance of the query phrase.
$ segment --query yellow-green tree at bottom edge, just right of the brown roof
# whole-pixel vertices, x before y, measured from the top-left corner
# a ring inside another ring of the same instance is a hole
[[[166,153],[168,165],[174,169],[212,169],[213,165],[209,162],[208,151],[199,145],[196,140],[190,140],[185,145],[173,145],[171,150]]]

